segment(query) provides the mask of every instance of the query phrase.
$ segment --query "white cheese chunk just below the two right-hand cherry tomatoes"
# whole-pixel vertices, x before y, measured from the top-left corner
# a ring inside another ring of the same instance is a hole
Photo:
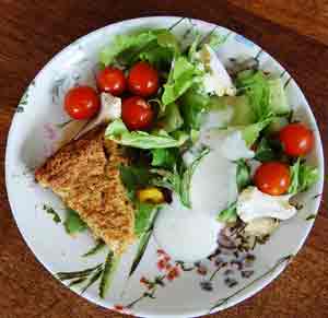
[[[291,195],[270,196],[256,187],[248,187],[238,196],[237,214],[245,223],[258,217],[288,220],[296,214],[290,198]]]

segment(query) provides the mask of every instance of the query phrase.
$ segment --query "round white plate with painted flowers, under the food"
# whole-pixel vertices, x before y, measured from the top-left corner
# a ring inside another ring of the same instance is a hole
[[[89,268],[103,262],[106,256],[106,252],[103,251],[94,257],[81,257],[93,246],[91,235],[83,233],[72,238],[66,234],[61,224],[55,224],[51,215],[43,210],[43,204],[52,207],[61,216],[63,207],[51,191],[44,190],[34,181],[34,168],[51,154],[56,140],[59,139],[62,131],[58,123],[67,120],[61,107],[62,96],[69,87],[77,83],[93,83],[97,52],[116,34],[141,27],[168,27],[179,20],[180,17],[174,16],[128,20],[83,36],[47,63],[27,87],[19,105],[7,148],[8,195],[23,237],[38,260],[52,274]],[[207,22],[185,19],[174,27],[173,32],[183,36],[185,31],[190,28],[190,23],[195,24],[202,33],[208,33],[214,27],[213,24]],[[286,83],[285,91],[295,110],[295,117],[308,123],[315,131],[315,149],[308,161],[318,166],[320,179],[309,191],[300,196],[304,208],[297,216],[283,222],[266,245],[258,246],[254,250],[256,260],[250,269],[254,271],[250,278],[243,279],[233,264],[227,264],[227,268],[233,270],[230,276],[238,282],[237,285],[227,287],[224,283],[223,272],[226,268],[219,271],[219,274],[212,279],[211,285],[204,284],[216,269],[214,261],[204,260],[203,267],[196,267],[191,271],[184,271],[178,267],[179,276],[172,282],[167,278],[163,279],[165,286],[156,285],[155,298],[149,297],[147,294],[149,290],[144,283],[140,282],[140,279],[145,276],[153,280],[157,275],[165,274],[157,267],[159,260],[163,257],[157,254],[159,247],[151,238],[141,263],[129,280],[127,280],[127,275],[136,246],[125,255],[105,299],[98,297],[98,284],[93,285],[83,294],[83,297],[101,306],[114,308],[116,305],[122,305],[125,313],[132,313],[136,316],[175,318],[206,315],[233,306],[270,283],[288,262],[284,260],[280,263],[279,260],[285,256],[295,255],[313,226],[314,220],[306,221],[306,219],[318,211],[320,199],[314,197],[321,193],[323,190],[324,157],[318,128],[308,103],[289,73],[260,47],[224,27],[219,26],[216,32],[226,35],[225,43],[218,48],[220,58],[227,60],[241,56],[258,56],[261,69],[282,76]],[[233,256],[227,257],[233,258]],[[206,275],[201,274],[204,269],[207,270]],[[212,291],[204,291],[201,285],[212,287]],[[246,285],[247,287],[244,288]],[[139,297],[142,297],[139,302],[127,306]],[[121,309],[119,306],[116,309]]]

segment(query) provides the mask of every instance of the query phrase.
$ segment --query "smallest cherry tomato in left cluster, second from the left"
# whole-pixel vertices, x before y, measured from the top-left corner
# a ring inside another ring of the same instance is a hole
[[[117,68],[105,68],[97,73],[97,85],[102,92],[119,96],[126,90],[125,73]]]

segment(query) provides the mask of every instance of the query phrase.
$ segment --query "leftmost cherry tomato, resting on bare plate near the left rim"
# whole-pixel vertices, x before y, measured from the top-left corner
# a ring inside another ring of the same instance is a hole
[[[94,89],[78,86],[68,91],[63,107],[73,119],[89,119],[99,110],[101,102]]]

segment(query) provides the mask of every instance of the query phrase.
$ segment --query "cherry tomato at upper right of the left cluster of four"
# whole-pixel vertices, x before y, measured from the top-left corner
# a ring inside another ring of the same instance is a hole
[[[129,72],[128,85],[136,95],[151,96],[159,90],[159,73],[148,62],[138,62]]]

